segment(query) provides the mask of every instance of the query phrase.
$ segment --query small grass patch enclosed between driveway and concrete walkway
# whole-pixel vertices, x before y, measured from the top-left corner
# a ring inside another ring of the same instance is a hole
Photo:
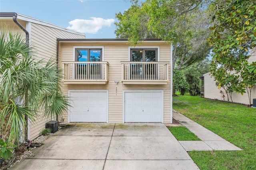
[[[167,127],[177,140],[200,140],[186,127]]]

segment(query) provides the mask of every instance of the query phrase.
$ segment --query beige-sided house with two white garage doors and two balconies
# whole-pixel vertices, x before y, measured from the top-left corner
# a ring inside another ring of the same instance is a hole
[[[172,45],[146,39],[58,39],[64,122],[172,123]]]

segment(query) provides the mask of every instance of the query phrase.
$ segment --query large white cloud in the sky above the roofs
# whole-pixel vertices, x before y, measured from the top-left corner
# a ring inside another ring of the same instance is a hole
[[[67,28],[78,32],[96,34],[102,27],[110,27],[114,23],[114,19],[103,19],[91,17],[91,20],[75,19],[68,22],[70,26]]]

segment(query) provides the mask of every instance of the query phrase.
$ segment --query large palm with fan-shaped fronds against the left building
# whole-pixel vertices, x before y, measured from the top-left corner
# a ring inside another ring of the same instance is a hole
[[[61,91],[62,71],[56,62],[35,59],[20,34],[0,34],[0,138],[14,142],[27,122],[44,117],[57,119],[67,109],[68,98]]]

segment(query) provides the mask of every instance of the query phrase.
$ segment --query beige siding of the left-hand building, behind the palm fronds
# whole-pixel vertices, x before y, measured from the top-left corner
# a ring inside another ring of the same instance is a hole
[[[18,20],[18,22],[26,28],[26,21]],[[7,29],[7,30],[6,30]],[[24,39],[26,34],[14,23],[12,19],[0,19],[0,31],[9,30],[14,33],[20,33]],[[80,34],[73,34],[67,31],[58,30],[48,26],[31,23],[31,45],[34,47],[37,59],[45,59],[46,61],[50,58],[56,59],[57,52],[57,38],[85,38]],[[30,123],[30,136],[32,140],[39,136],[40,131],[45,128],[45,123],[49,121],[44,118],[36,119],[35,122]]]

